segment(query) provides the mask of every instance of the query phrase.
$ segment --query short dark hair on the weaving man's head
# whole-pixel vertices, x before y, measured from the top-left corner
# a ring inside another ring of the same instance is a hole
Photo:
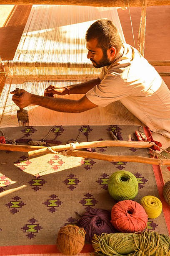
[[[111,20],[97,20],[88,28],[86,35],[86,41],[91,39],[97,39],[97,47],[106,51],[111,46],[114,46],[117,51],[122,47],[122,39],[115,25]]]

